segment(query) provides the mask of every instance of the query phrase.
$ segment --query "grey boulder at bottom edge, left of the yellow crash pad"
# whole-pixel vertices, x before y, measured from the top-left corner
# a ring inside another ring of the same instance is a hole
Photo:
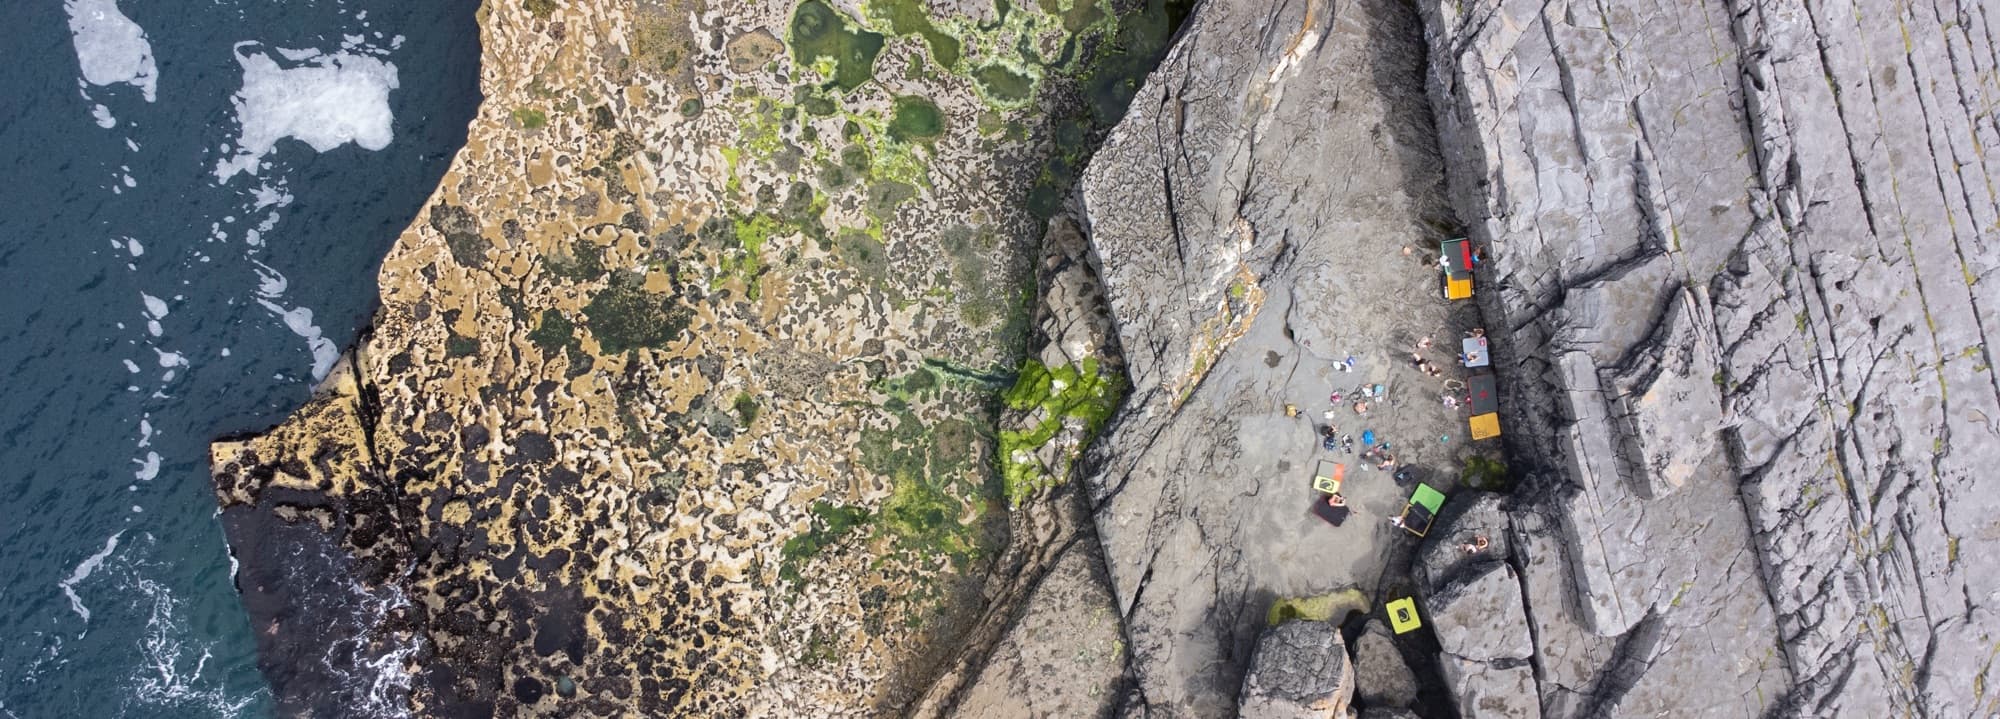
[[[1340,629],[1326,621],[1286,621],[1264,631],[1244,673],[1244,719],[1346,717],[1354,663]]]

